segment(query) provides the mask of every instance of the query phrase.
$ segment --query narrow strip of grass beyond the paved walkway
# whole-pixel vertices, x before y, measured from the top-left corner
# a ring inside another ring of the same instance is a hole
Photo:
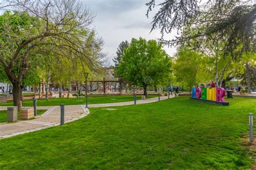
[[[149,95],[147,98],[157,97],[156,95]],[[137,95],[137,100],[141,98]],[[104,96],[104,97],[88,97],[88,104],[99,104],[99,103],[117,103],[117,102],[127,102],[133,101],[133,95],[129,96]],[[51,106],[51,105],[76,105],[76,104],[86,104],[85,97],[74,97],[74,98],[51,98],[48,101],[45,99],[37,100],[37,106]],[[7,103],[0,103],[0,106],[10,106],[13,105],[12,101]],[[33,100],[24,100],[24,107],[32,107]]]

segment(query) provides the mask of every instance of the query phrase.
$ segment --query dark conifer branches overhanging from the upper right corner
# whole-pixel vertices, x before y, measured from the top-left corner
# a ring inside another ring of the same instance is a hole
[[[240,58],[243,52],[255,52],[256,4],[250,1],[209,0],[151,0],[146,5],[149,12],[159,5],[153,17],[152,30],[161,29],[159,40],[166,45],[204,44],[207,40],[225,40],[225,52],[232,58]],[[173,30],[181,32],[176,39],[166,40],[165,34]],[[193,34],[191,34],[193,32]]]

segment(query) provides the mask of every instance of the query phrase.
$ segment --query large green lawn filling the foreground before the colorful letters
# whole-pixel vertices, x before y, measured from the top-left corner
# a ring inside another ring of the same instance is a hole
[[[0,140],[6,169],[248,169],[255,153],[242,137],[256,99],[229,107],[188,96],[90,108],[78,121]]]

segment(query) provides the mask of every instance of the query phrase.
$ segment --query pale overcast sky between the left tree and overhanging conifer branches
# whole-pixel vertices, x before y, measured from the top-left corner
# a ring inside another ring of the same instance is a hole
[[[103,37],[104,51],[112,58],[116,56],[117,47],[121,41],[131,41],[132,38],[143,37],[147,40],[160,37],[159,30],[151,30],[151,18],[145,16],[149,0],[82,0],[89,9],[96,13],[95,26],[98,35]],[[170,35],[174,36],[175,32]],[[164,47],[169,55],[175,53],[174,48]]]

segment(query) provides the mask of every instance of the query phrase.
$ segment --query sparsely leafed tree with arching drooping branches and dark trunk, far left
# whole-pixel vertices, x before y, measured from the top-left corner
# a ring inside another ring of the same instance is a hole
[[[94,16],[82,4],[76,0],[8,0],[8,5],[16,11],[0,17],[0,62],[12,83],[14,105],[18,108],[21,83],[32,60],[51,54],[79,60],[90,69],[100,67],[102,55],[91,55],[94,50],[89,49],[95,46],[87,46],[84,41],[90,35]]]

